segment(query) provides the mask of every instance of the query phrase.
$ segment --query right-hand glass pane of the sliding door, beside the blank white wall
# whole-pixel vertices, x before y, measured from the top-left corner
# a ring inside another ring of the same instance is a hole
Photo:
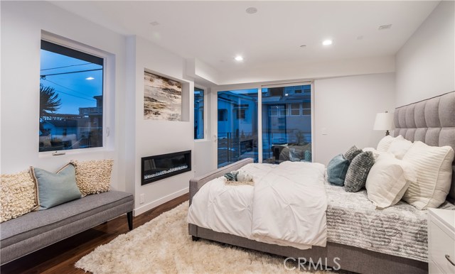
[[[311,84],[262,88],[262,163],[311,162]]]

